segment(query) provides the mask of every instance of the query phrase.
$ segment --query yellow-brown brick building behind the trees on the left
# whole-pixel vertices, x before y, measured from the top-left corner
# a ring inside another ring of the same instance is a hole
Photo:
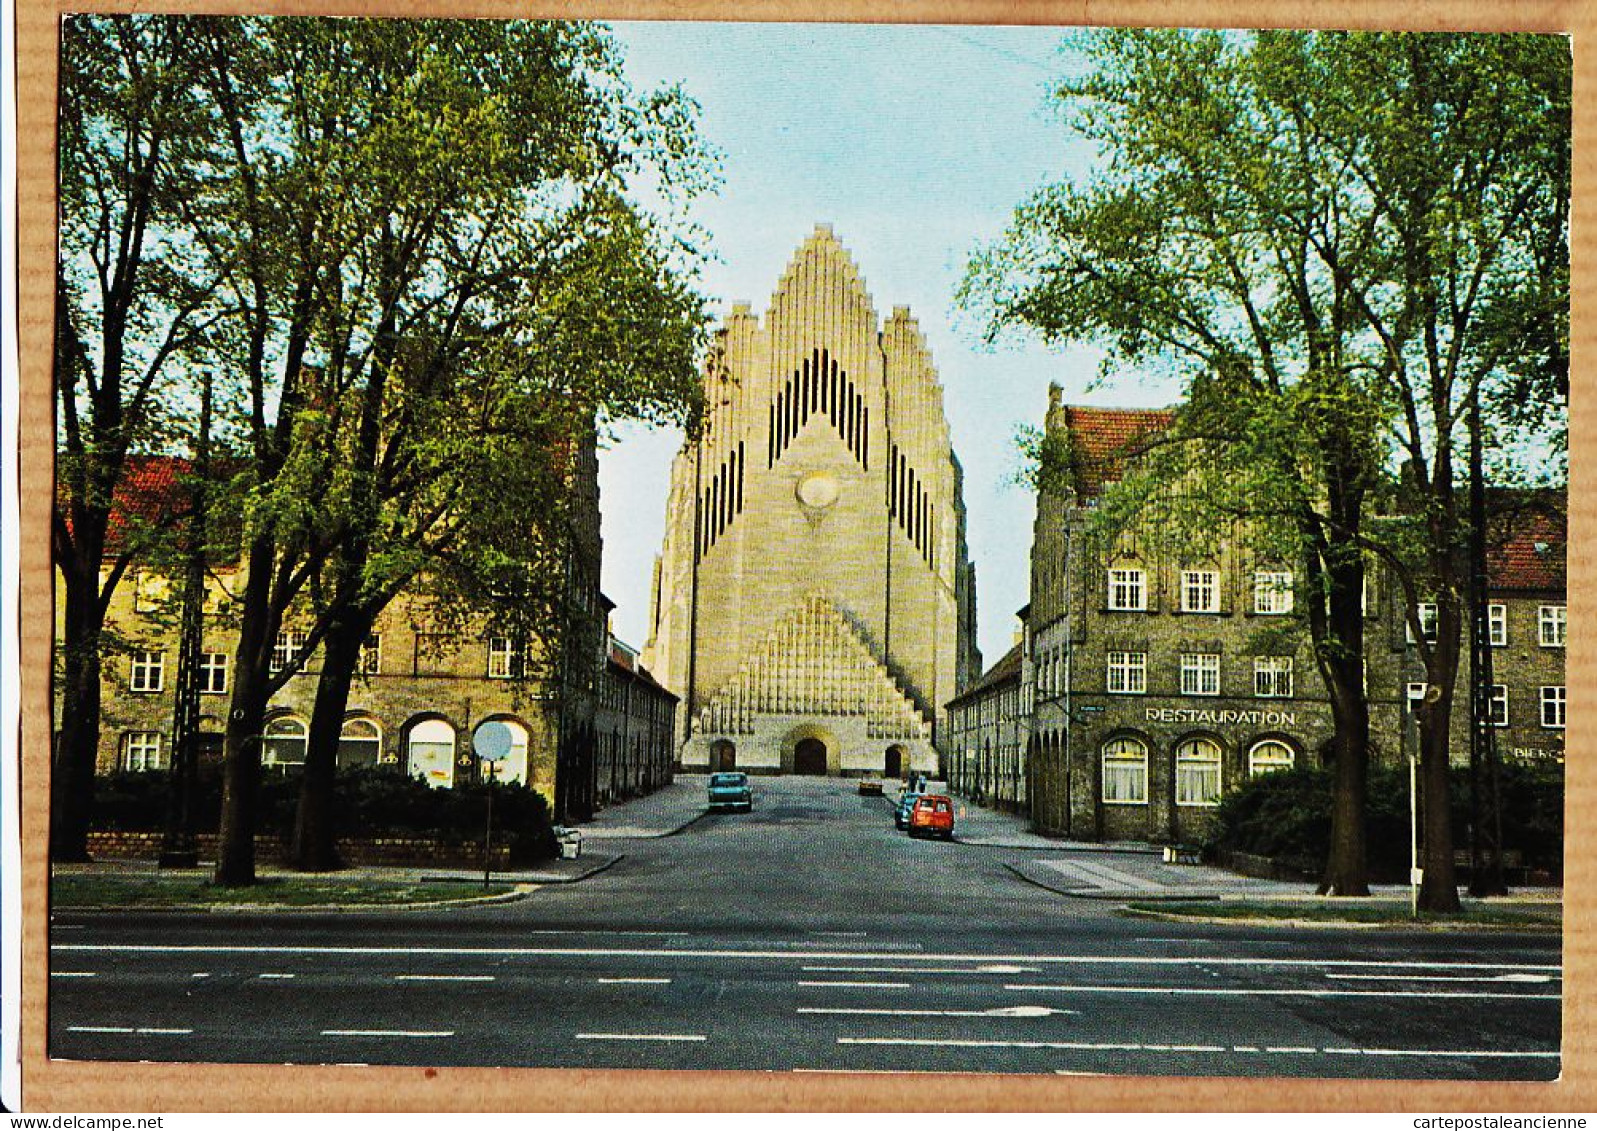
[[[144,521],[161,521],[180,510],[174,495],[184,470],[179,460],[141,458],[129,468],[134,482],[125,497]],[[482,773],[473,736],[478,727],[497,720],[511,728],[514,743],[509,757],[495,767],[495,780],[532,786],[565,819],[586,819],[607,799],[671,780],[676,696],[647,671],[618,665],[607,629],[610,604],[599,591],[602,545],[592,442],[578,447],[570,482],[578,505],[559,639],[517,641],[481,623],[462,628],[458,617],[436,615],[423,594],[401,593],[378,617],[363,650],[339,746],[340,767],[388,767],[450,788]],[[126,522],[113,524],[112,553],[121,526]],[[238,642],[232,599],[241,588],[238,562],[212,564],[200,673],[203,768],[214,770],[222,754]],[[134,569],[112,596],[105,623],[117,645],[107,649],[102,663],[102,773],[168,765],[179,589],[180,581]],[[265,719],[262,762],[268,773],[303,764],[319,673],[319,652],[302,655],[307,633],[295,626],[294,613],[286,620],[289,628],[278,636],[273,665],[295,671],[271,698]],[[540,658],[548,663],[535,665]],[[69,706],[56,703],[57,719]],[[668,735],[664,741],[661,733]]]

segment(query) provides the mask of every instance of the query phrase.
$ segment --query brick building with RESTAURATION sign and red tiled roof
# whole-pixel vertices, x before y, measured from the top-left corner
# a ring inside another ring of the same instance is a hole
[[[1089,522],[1094,506],[1137,442],[1172,415],[1059,398],[1054,387],[1046,428],[1072,458],[1038,495],[1012,698],[1024,714],[1030,813],[1040,831],[1073,839],[1198,839],[1223,792],[1257,773],[1321,764],[1332,735],[1306,626],[1292,617],[1294,562],[1254,553],[1239,529],[1180,561],[1135,530],[1105,543]],[[1504,522],[1490,562],[1498,748],[1562,759],[1562,511],[1547,503]],[[1410,703],[1425,684],[1401,591],[1378,569],[1367,577],[1365,617],[1372,752],[1399,760],[1417,741]],[[1466,663],[1453,712],[1458,762],[1469,752],[1468,679]]]

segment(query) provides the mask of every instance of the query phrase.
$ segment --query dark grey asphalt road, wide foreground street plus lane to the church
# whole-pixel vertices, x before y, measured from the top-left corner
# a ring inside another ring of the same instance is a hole
[[[612,842],[615,867],[519,903],[57,914],[51,1054],[1559,1075],[1555,936],[1129,919],[1025,883],[1003,866],[1022,850],[910,840],[851,783],[757,789],[752,813]]]

